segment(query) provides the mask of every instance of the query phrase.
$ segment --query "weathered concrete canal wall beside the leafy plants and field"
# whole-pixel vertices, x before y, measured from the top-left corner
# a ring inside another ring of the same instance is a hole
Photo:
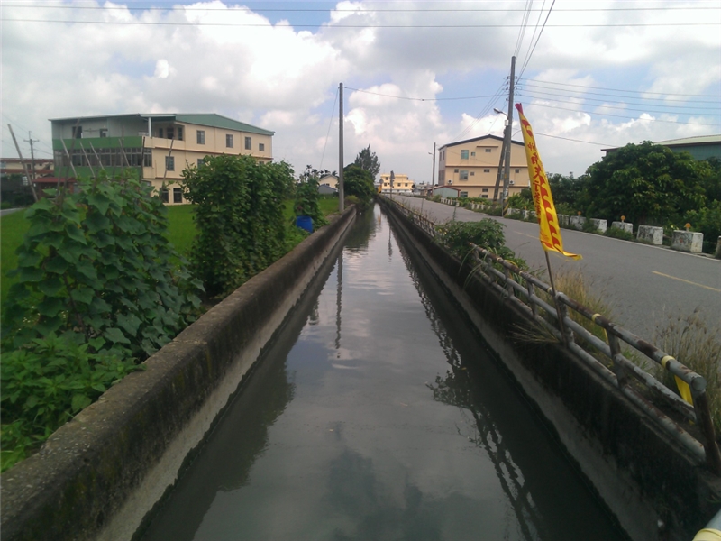
[[[5,472],[3,540],[131,539],[355,216],[335,216]]]

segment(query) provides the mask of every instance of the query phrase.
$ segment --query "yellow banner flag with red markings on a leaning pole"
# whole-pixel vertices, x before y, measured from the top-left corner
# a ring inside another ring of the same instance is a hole
[[[535,215],[540,226],[540,239],[543,250],[559,252],[572,259],[580,259],[576,253],[563,252],[561,225],[558,223],[556,207],[553,205],[551,186],[548,184],[546,172],[543,170],[541,156],[535,146],[534,132],[531,124],[524,116],[521,104],[516,104],[521,119],[521,130],[524,133],[525,159],[528,161],[528,175],[531,178],[531,192],[534,194]]]

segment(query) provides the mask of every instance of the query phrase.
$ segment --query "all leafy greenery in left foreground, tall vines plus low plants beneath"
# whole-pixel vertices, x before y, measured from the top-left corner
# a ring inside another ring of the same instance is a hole
[[[129,175],[78,186],[47,190],[25,213],[3,317],[3,468],[167,344],[200,304],[150,187]]]

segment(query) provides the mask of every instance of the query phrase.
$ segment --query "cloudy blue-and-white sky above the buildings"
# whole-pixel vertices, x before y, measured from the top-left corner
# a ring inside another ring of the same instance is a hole
[[[297,173],[337,170],[342,83],[344,163],[370,145],[428,182],[434,143],[502,135],[514,56],[549,173],[721,133],[721,0],[3,0],[0,19],[3,157],[7,124],[50,158],[50,118],[217,113],[274,131]]]

